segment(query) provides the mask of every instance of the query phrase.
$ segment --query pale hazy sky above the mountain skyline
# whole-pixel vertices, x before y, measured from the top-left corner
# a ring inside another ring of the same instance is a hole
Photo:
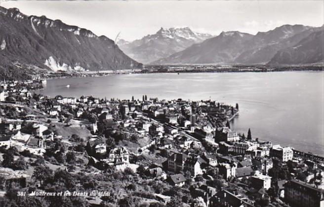
[[[322,26],[324,1],[289,0],[93,0],[5,1],[27,15],[45,15],[96,35],[134,40],[154,34],[161,27],[190,27],[218,35],[222,31],[256,34],[283,24]]]

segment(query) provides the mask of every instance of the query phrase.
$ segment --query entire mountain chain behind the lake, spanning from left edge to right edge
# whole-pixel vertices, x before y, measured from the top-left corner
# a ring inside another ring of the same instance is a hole
[[[125,53],[124,53],[125,52]],[[128,57],[129,56],[129,57]],[[134,41],[119,40],[0,7],[0,76],[37,71],[142,68],[144,64],[324,63],[324,27],[283,25],[256,35],[239,31],[217,36],[190,28],[161,28]]]

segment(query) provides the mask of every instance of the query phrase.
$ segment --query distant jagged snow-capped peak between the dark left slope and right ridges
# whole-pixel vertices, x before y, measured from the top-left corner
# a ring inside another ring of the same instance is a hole
[[[146,35],[129,43],[121,40],[118,44],[129,57],[147,64],[210,37],[212,35],[193,32],[189,27],[161,28],[156,34]]]

